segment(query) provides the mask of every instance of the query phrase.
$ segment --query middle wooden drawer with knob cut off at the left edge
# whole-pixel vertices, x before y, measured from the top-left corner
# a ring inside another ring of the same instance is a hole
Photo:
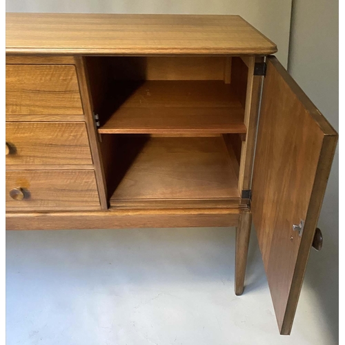
[[[7,122],[6,165],[92,164],[83,122]]]

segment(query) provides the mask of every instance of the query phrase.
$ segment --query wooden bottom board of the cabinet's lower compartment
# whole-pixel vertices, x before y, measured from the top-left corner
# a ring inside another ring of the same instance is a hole
[[[238,164],[223,137],[119,137],[110,206],[239,204]]]

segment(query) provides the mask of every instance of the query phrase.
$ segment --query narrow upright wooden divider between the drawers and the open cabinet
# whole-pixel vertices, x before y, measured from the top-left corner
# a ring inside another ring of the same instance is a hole
[[[92,154],[92,161],[95,166],[99,200],[101,203],[101,209],[106,210],[108,209],[106,180],[104,176],[103,163],[100,153],[99,135],[97,133],[95,120],[92,114],[92,98],[90,97],[90,85],[87,75],[88,71],[86,70],[85,58],[75,57],[75,66],[77,68],[81,101],[83,102],[83,109],[85,111],[85,121],[86,127],[88,128],[88,138]]]

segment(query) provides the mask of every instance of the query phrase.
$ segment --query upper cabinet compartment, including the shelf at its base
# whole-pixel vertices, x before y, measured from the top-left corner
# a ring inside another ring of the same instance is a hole
[[[88,57],[102,134],[246,133],[239,57]]]

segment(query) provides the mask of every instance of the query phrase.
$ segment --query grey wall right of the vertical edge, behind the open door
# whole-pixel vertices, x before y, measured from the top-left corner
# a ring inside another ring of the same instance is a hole
[[[289,72],[317,108],[338,130],[338,1],[294,0]],[[337,334],[339,270],[339,157],[328,180],[319,228],[324,248],[312,250],[305,288],[313,288],[322,313]],[[302,290],[303,294],[303,290]]]

